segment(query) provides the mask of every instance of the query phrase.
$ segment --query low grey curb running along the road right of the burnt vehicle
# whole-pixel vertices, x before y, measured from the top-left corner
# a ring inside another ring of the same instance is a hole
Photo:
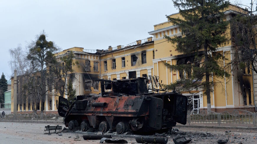
[[[235,126],[216,126],[216,125],[176,125],[175,127],[257,130],[257,127],[243,127],[243,126],[235,127]]]

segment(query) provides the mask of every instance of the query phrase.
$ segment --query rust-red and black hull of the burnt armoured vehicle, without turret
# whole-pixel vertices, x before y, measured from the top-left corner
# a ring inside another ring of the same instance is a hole
[[[60,104],[61,102],[61,104]],[[64,116],[69,129],[81,127],[82,131],[99,128],[124,133],[171,128],[176,123],[186,124],[187,97],[176,92],[144,93],[110,97],[79,98],[68,108],[68,102],[59,97],[58,112]]]

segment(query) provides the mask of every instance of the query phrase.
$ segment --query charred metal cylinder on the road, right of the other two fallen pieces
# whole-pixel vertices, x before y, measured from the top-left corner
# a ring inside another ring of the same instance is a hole
[[[136,137],[137,143],[160,143],[160,144],[166,144],[168,142],[167,138],[164,137],[144,137],[144,136],[138,136]]]

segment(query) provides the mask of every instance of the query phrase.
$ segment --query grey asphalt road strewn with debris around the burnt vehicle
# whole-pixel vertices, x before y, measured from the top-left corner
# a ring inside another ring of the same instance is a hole
[[[45,135],[43,134],[46,125],[54,125],[48,123],[12,123],[0,122],[0,144],[84,144],[93,143],[98,144],[100,140],[84,140],[82,135],[88,134],[86,132],[62,132],[62,136],[57,134]],[[62,125],[64,126],[64,125]],[[208,128],[178,128],[179,133],[166,134],[169,139],[168,144],[174,144],[173,138],[177,134],[192,138],[191,143],[196,144],[212,144],[217,143],[218,139],[227,139],[228,143],[233,144],[254,144],[257,143],[256,130],[237,130],[232,129],[230,135],[225,135],[225,129],[208,129]],[[124,135],[116,135],[113,133],[113,138],[122,138],[128,143],[135,144],[135,137],[138,135],[126,133]],[[151,135],[153,136],[153,135]],[[256,137],[256,138],[255,138]],[[77,138],[77,139],[76,139]]]

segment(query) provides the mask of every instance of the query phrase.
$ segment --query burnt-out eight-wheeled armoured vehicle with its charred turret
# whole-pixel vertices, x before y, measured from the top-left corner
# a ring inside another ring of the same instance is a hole
[[[154,131],[172,128],[176,122],[186,124],[187,97],[177,92],[160,93],[163,89],[157,77],[99,81],[101,95],[80,95],[71,105],[59,97],[58,113],[69,130],[98,128],[122,134],[129,129]]]

